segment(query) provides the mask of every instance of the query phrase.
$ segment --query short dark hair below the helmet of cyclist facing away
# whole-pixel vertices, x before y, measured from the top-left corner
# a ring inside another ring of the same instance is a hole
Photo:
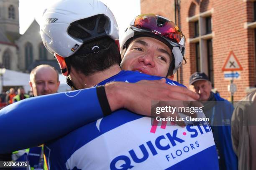
[[[100,46],[103,49],[100,48],[98,53],[79,53],[79,51],[93,48],[94,46]],[[121,62],[118,46],[115,44],[115,41],[109,37],[100,38],[99,40],[83,44],[77,53],[79,54],[75,53],[74,55],[65,58],[65,61],[67,65],[72,66],[86,76],[98,71],[104,71],[114,64],[119,65]]]

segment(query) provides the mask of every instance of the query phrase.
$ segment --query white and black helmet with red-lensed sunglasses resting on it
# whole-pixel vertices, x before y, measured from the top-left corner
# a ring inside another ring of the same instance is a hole
[[[156,38],[171,49],[174,60],[170,64],[168,74],[174,74],[182,65],[186,40],[177,25],[159,15],[138,15],[120,38],[121,53],[133,39],[143,36]]]

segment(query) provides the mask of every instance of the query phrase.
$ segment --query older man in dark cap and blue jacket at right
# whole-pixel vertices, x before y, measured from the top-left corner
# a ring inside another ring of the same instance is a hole
[[[220,170],[236,170],[237,157],[232,148],[230,122],[233,105],[213,93],[212,83],[205,73],[195,72],[190,76],[189,85],[200,95],[205,116],[209,118],[218,151]],[[219,102],[221,101],[221,102]]]

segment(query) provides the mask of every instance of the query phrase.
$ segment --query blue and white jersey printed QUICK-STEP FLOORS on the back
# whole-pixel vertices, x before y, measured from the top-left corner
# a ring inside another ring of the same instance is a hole
[[[143,79],[161,78],[121,71],[99,85]],[[44,152],[50,170],[218,170],[215,143],[207,122],[187,127],[151,126],[151,118],[124,109],[46,143]]]

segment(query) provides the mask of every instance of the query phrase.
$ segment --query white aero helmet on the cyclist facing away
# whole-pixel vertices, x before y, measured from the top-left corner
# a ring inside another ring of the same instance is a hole
[[[96,15],[90,28],[79,23],[79,20]],[[105,20],[103,24],[101,20]],[[77,31],[76,36],[72,28]],[[113,13],[98,0],[61,0],[52,5],[43,14],[40,34],[46,49],[64,58],[72,56],[85,42],[104,36],[114,41],[119,38]]]

